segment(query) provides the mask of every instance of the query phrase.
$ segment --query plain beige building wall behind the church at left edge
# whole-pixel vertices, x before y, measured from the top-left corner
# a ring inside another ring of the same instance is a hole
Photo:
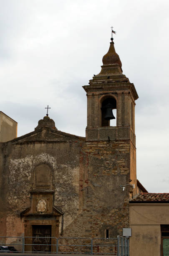
[[[10,141],[17,137],[18,123],[0,111],[0,142]]]

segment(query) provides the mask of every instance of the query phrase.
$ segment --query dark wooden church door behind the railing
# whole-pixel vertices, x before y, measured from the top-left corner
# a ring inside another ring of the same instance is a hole
[[[51,225],[32,225],[32,236],[32,251],[51,252]]]

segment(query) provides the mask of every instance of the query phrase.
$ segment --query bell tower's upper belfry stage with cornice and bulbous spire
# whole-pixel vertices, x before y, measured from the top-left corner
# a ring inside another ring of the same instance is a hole
[[[134,106],[138,95],[121,66],[111,38],[101,72],[83,86],[88,98],[86,140],[131,138],[135,144]],[[116,122],[111,123],[114,119]]]

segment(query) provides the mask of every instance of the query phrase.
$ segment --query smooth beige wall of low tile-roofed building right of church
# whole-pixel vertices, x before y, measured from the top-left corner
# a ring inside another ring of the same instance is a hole
[[[160,225],[169,224],[169,203],[130,204],[130,256],[160,256]]]

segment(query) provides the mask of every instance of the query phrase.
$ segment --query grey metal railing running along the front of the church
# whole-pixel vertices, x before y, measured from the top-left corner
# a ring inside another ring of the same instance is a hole
[[[4,246],[4,247],[3,247]],[[78,253],[78,254],[111,254],[129,256],[129,239],[117,238],[73,238],[73,237],[12,237],[0,236],[0,248],[5,251],[8,246],[16,253]]]

